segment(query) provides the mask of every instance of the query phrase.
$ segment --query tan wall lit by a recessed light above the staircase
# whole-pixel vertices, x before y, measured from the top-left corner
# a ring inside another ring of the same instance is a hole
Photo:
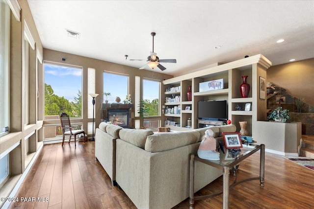
[[[295,97],[304,97],[314,106],[314,58],[270,67],[267,82],[287,89]]]

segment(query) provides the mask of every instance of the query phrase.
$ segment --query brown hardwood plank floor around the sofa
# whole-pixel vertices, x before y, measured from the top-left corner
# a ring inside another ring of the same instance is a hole
[[[10,209],[135,209],[128,196],[111,181],[95,160],[95,142],[79,142],[75,149],[61,143],[44,145],[16,197],[49,198],[45,202],[14,202]],[[260,153],[244,160],[238,179],[259,176]],[[186,169],[188,167],[186,166]],[[231,175],[231,180],[233,180]],[[188,184],[188,183],[187,183]],[[197,192],[222,189],[222,177]],[[314,171],[282,156],[265,154],[265,186],[249,181],[230,190],[231,209],[310,209],[314,207]],[[26,199],[27,200],[27,199]],[[195,202],[195,209],[222,208],[222,195]],[[174,207],[188,209],[188,199]]]

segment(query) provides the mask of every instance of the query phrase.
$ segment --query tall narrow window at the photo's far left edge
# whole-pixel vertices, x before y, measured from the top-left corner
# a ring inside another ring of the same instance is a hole
[[[3,136],[9,131],[10,9],[2,0],[0,14],[0,136]]]

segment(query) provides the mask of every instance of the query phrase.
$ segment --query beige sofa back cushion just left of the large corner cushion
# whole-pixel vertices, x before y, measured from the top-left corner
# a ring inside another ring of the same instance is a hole
[[[119,137],[124,141],[144,149],[147,136],[152,134],[154,134],[154,132],[151,130],[126,128],[119,132]]]

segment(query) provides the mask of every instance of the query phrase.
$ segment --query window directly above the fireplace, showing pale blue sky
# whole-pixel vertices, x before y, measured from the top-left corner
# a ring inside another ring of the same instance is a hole
[[[116,102],[116,97],[120,97],[121,103],[127,100],[129,86],[129,76],[104,72],[104,101],[107,103]]]

